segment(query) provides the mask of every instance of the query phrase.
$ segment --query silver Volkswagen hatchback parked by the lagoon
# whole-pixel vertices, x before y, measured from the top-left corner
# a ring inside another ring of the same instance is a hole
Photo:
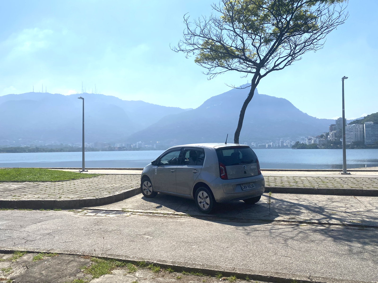
[[[247,145],[198,143],[167,149],[141,175],[145,197],[158,192],[194,199],[203,213],[215,202],[253,204],[265,190],[259,160]]]

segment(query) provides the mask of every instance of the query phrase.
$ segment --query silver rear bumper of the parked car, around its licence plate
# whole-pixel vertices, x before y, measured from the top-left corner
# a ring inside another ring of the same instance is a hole
[[[242,190],[241,184],[253,183],[254,188]],[[265,191],[265,180],[263,175],[247,178],[222,180],[220,177],[212,181],[211,190],[215,201],[228,202],[231,200],[245,200],[246,198],[258,197]]]

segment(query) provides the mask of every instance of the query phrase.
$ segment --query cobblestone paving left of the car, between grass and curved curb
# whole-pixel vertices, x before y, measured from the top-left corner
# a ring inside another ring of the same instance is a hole
[[[104,197],[140,186],[140,175],[103,175],[61,182],[0,182],[0,199],[77,199]]]

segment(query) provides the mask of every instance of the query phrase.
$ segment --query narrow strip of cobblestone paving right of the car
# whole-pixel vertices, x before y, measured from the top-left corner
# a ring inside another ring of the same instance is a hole
[[[375,177],[264,176],[265,186],[283,188],[378,189]]]

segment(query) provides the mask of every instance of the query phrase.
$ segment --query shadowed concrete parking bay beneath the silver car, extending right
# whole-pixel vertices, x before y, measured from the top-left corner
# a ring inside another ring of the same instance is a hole
[[[117,203],[90,207],[81,213],[114,216],[106,211],[211,218],[213,221],[244,223],[276,221],[378,228],[377,197],[265,193],[256,205],[246,205],[243,201],[222,203],[214,208],[212,214],[204,215],[198,211],[193,200],[164,194],[158,194],[155,198],[146,198],[139,194]]]

